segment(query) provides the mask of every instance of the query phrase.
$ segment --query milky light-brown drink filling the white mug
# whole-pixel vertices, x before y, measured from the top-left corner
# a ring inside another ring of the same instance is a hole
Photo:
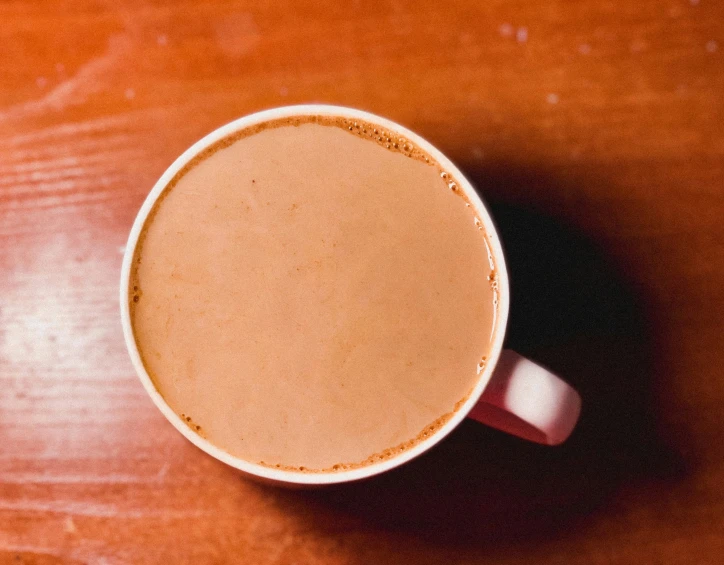
[[[134,256],[155,386],[211,443],[272,467],[333,472],[424,439],[493,333],[486,236],[459,192],[371,124],[218,143],[167,187]]]

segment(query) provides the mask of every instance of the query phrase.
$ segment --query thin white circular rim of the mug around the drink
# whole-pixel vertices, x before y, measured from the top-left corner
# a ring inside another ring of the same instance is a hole
[[[346,118],[351,120],[360,120],[365,122],[371,122],[375,125],[383,127],[388,130],[392,130],[401,136],[404,136],[414,145],[420,148],[424,153],[427,153],[432,159],[434,159],[449,176],[449,182],[455,183],[456,190],[462,192],[461,197],[464,197],[470,206],[473,208],[476,217],[481,222],[483,228],[486,246],[489,251],[489,258],[491,261],[491,267],[495,273],[495,284],[497,284],[497,304],[495,304],[495,321],[493,327],[493,338],[490,343],[490,351],[487,359],[487,364],[483,368],[475,387],[472,389],[468,397],[462,400],[456,407],[455,412],[452,416],[442,424],[433,434],[427,439],[422,439],[413,447],[400,453],[399,455],[393,456],[389,459],[378,463],[370,463],[365,466],[336,471],[336,472],[298,472],[280,470],[275,468],[266,467],[257,463],[253,463],[238,457],[235,457],[220,448],[216,447],[208,440],[204,439],[200,435],[194,433],[192,430],[185,425],[178,416],[166,403],[166,400],[158,392],[153,381],[146,371],[145,365],[141,359],[138,347],[136,345],[135,336],[133,335],[133,327],[131,324],[131,313],[130,303],[132,291],[129,289],[131,284],[131,274],[133,270],[133,261],[136,255],[136,248],[139,243],[139,239],[144,231],[144,226],[147,220],[151,219],[153,211],[159,198],[164,194],[169,185],[172,184],[175,178],[185,168],[199,158],[206,150],[211,146],[218,144],[226,138],[233,138],[234,134],[247,129],[253,129],[255,126],[265,124],[270,121],[301,117],[301,116],[320,116],[328,118]],[[509,288],[508,288],[508,275],[503,257],[502,248],[498,238],[497,230],[490,218],[490,215],[485,208],[479,195],[465,178],[465,176],[458,170],[455,165],[450,162],[439,150],[429,144],[427,141],[422,139],[420,136],[407,130],[406,128],[391,122],[385,118],[354,110],[351,108],[328,106],[328,105],[300,105],[300,106],[287,106],[282,108],[275,108],[272,110],[266,110],[251,114],[244,118],[235,120],[204,137],[187,151],[185,151],[161,176],[158,182],[154,185],[153,189],[144,201],[141,209],[136,217],[136,220],[131,229],[129,235],[128,244],[126,246],[123,266],[121,272],[121,318],[123,323],[124,337],[126,345],[131,356],[134,368],[144,385],[144,388],[151,396],[156,406],[166,416],[166,418],[179,430],[189,441],[195,444],[200,449],[204,450],[213,457],[235,467],[250,475],[265,478],[268,480],[288,483],[288,484],[332,484],[339,482],[346,482],[351,480],[357,480],[365,477],[369,477],[388,469],[392,469],[409,461],[417,455],[431,448],[438,441],[443,439],[448,433],[450,433],[459,423],[462,421],[467,413],[476,404],[480,395],[482,394],[485,386],[490,380],[492,370],[497,363],[498,356],[502,349],[502,342],[505,334],[505,327],[508,318],[509,309]]]

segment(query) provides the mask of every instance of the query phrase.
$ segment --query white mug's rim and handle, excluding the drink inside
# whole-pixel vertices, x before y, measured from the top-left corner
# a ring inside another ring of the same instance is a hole
[[[146,372],[133,336],[129,311],[129,276],[139,234],[159,195],[176,173],[204,149],[236,131],[269,120],[309,115],[345,117],[379,124],[386,129],[398,132],[426,151],[444,170],[458,180],[459,189],[465,192],[471,206],[483,223],[498,273],[499,302],[494,338],[488,362],[481,371],[480,378],[468,399],[437,432],[411,449],[379,463],[334,473],[300,473],[257,465],[230,455],[194,433],[169,407]],[[322,104],[287,106],[258,112],[213,131],[191,146],[166,170],[141,206],[131,228],[121,270],[121,320],[126,345],[143,386],[159,410],[179,432],[209,455],[239,469],[250,477],[289,486],[342,483],[383,473],[430,449],[466,417],[531,441],[548,445],[563,442],[578,420],[581,409],[580,397],[573,388],[548,370],[517,353],[503,350],[509,306],[508,272],[498,232],[480,196],[460,170],[430,143],[394,122],[360,110]]]

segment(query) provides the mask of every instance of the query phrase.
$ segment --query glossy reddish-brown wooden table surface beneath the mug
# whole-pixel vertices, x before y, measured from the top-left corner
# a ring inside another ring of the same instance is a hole
[[[0,563],[721,563],[724,5],[0,4]],[[249,112],[355,106],[491,203],[510,346],[585,399],[562,448],[463,424],[363,484],[241,479],[154,408],[121,253]]]

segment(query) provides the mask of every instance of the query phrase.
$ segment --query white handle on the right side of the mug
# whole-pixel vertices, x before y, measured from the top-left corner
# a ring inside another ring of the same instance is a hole
[[[529,441],[559,445],[580,413],[581,397],[573,387],[530,359],[503,350],[468,417]]]

